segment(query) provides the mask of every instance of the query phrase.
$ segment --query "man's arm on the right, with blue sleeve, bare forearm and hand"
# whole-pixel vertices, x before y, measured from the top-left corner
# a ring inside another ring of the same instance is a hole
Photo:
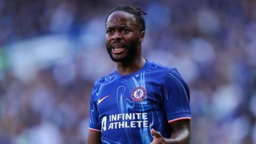
[[[172,136],[169,139],[162,137],[161,133],[151,130],[154,135],[152,143],[189,143],[190,119],[189,87],[177,69],[170,71],[163,83],[163,109],[170,124]],[[177,121],[180,119],[179,121]]]

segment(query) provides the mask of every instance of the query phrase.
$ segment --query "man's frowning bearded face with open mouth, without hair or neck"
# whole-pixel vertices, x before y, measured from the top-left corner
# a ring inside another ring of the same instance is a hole
[[[115,62],[130,61],[137,56],[140,30],[134,15],[115,11],[106,22],[106,46]]]

